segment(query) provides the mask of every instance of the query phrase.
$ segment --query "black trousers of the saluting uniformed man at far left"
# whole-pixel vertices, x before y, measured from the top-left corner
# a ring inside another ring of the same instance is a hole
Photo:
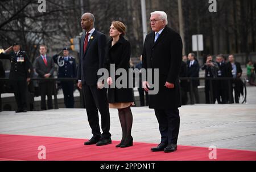
[[[14,96],[18,110],[27,110],[27,81],[10,81],[11,87],[14,90]]]

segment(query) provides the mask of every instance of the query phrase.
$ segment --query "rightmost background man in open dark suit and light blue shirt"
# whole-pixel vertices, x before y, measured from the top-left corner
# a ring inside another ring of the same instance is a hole
[[[242,85],[242,68],[240,63],[236,62],[234,59],[234,55],[229,55],[229,62],[226,65],[226,75],[229,78],[233,78],[231,85],[231,93],[230,93],[230,104],[234,103],[233,90],[235,94],[235,102],[239,104],[239,98],[241,93],[241,85]]]

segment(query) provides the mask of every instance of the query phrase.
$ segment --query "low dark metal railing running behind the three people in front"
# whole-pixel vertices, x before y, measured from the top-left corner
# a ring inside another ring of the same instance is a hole
[[[232,91],[231,91],[231,88],[232,88],[232,81],[234,80],[233,78],[179,78],[180,80],[187,80],[188,83],[189,83],[189,88],[190,88],[190,91],[189,91],[189,97],[190,97],[190,100],[191,100],[191,105],[195,104],[195,101],[194,101],[194,97],[193,97],[193,85],[192,85],[192,81],[193,80],[209,80],[209,84],[210,84],[210,103],[213,103],[213,83],[212,81],[213,80],[223,80],[223,81],[228,81],[228,92],[229,92],[229,101],[231,102],[231,94],[232,94]],[[53,96],[54,96],[54,105],[55,105],[55,109],[59,109],[58,107],[58,102],[57,102],[57,90],[56,90],[56,81],[77,81],[76,78],[31,78],[31,81],[34,81],[34,80],[38,80],[38,81],[52,81],[53,82]],[[0,78],[0,81],[9,81],[9,78]],[[243,83],[243,88],[245,90],[245,98],[244,100],[242,101],[242,103],[246,103],[246,94],[247,94],[247,91],[246,91],[246,80],[243,79],[242,81]],[[82,97],[82,92],[79,90],[80,92],[80,106],[81,108],[83,107],[83,97]]]

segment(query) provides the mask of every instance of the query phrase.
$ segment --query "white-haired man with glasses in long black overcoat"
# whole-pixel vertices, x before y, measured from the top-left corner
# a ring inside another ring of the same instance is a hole
[[[142,65],[146,70],[159,69],[159,91],[149,94],[149,108],[155,109],[159,123],[161,142],[151,151],[174,152],[177,150],[180,117],[179,73],[182,61],[182,41],[180,35],[167,27],[167,15],[163,11],[151,12],[152,32],[144,42]],[[147,75],[148,76],[148,75]],[[156,76],[158,77],[158,76]],[[151,87],[148,78],[143,81],[143,88]],[[153,78],[155,80],[155,78]]]

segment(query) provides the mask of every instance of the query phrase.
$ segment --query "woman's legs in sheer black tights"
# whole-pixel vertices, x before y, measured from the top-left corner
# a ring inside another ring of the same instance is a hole
[[[131,113],[131,108],[118,109],[118,116],[122,128],[122,141],[130,139],[131,137],[131,127],[133,125],[133,114]]]

